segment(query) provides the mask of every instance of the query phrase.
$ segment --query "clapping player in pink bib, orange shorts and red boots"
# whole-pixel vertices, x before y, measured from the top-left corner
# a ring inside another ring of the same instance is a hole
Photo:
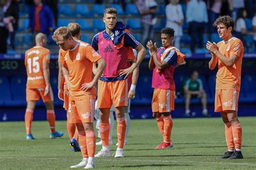
[[[149,69],[153,70],[152,98],[153,117],[156,118],[158,128],[164,141],[157,149],[170,148],[173,146],[171,140],[172,117],[174,110],[175,82],[173,80],[174,69],[177,65],[184,64],[185,55],[172,46],[174,30],[166,27],[161,30],[161,42],[163,47],[157,49],[156,43],[150,40],[147,47],[150,50]]]

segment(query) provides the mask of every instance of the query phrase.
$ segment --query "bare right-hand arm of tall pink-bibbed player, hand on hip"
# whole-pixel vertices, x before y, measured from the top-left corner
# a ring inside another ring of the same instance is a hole
[[[129,68],[119,70],[119,76],[125,75],[125,79],[129,74],[133,72],[135,68],[138,67],[138,65],[140,64],[140,62],[142,62],[146,55],[146,49],[145,47],[143,47],[142,44],[139,44],[135,49],[138,51],[137,59],[135,60],[135,62]]]

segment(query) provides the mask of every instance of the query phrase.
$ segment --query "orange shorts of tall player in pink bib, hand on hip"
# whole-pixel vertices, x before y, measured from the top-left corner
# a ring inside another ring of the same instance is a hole
[[[98,81],[98,108],[121,107],[128,105],[127,79],[113,82]]]

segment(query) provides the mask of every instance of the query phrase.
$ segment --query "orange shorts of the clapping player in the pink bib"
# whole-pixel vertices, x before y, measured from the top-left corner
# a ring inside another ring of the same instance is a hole
[[[175,91],[154,89],[152,97],[152,112],[171,112],[174,110]]]

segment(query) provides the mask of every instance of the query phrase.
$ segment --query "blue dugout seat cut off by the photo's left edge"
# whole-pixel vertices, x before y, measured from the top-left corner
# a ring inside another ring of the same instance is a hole
[[[10,83],[4,76],[0,76],[0,94],[0,102],[11,101]]]

